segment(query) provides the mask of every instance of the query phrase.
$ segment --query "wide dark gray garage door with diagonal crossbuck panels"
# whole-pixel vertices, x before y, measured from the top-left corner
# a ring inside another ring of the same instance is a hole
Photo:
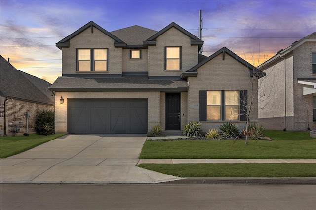
[[[71,134],[145,134],[147,99],[74,99],[68,104]]]

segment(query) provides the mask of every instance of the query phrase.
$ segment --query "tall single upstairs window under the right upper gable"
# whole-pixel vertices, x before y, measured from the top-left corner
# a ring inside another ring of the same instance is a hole
[[[165,70],[181,70],[181,47],[165,48]]]

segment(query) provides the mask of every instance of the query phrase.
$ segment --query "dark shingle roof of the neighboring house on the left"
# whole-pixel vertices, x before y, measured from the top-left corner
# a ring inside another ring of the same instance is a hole
[[[49,82],[15,69],[0,56],[0,94],[39,104],[54,105]]]

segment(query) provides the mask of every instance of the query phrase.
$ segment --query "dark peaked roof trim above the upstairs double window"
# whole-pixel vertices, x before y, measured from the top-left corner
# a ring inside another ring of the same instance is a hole
[[[69,47],[69,41],[70,39],[74,38],[75,36],[79,35],[81,32],[85,31],[88,28],[91,28],[91,32],[93,33],[93,27],[97,28],[98,30],[100,30],[101,32],[103,32],[104,34],[110,36],[115,42],[117,43],[124,43],[124,41],[120,40],[118,37],[116,37],[115,35],[111,34],[110,32],[108,32],[107,30],[103,29],[101,26],[99,26],[98,24],[94,23],[93,21],[90,21],[89,23],[85,24],[84,26],[82,26],[80,29],[78,29],[77,31],[75,31],[74,33],[72,33],[71,35],[68,35],[67,37],[63,38],[62,40],[60,40],[58,43],[56,43],[56,46],[59,49],[62,49],[62,47]]]

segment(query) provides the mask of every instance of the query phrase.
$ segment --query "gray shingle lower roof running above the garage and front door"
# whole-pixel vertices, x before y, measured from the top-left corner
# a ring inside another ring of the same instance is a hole
[[[188,85],[179,79],[149,79],[143,75],[120,78],[58,77],[50,89],[55,91],[187,91]]]

